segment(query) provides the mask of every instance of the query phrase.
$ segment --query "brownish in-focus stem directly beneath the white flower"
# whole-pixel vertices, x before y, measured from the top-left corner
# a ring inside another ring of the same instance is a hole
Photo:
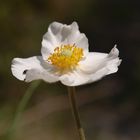
[[[84,134],[84,129],[82,128],[81,121],[80,121],[78,107],[77,107],[77,104],[76,104],[75,87],[68,87],[68,94],[69,94],[69,100],[70,100],[70,103],[71,103],[73,116],[74,116],[74,119],[75,119],[75,122],[76,122],[76,127],[77,127],[77,130],[78,130],[79,138],[80,138],[80,140],[86,140],[85,134]]]

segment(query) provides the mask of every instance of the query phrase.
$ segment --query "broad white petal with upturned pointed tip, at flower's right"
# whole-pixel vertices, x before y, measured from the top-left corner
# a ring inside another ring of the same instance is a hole
[[[105,75],[115,73],[121,60],[118,57],[119,51],[114,47],[109,54],[89,53],[87,58],[80,63],[80,70],[91,76],[90,82],[97,81]]]

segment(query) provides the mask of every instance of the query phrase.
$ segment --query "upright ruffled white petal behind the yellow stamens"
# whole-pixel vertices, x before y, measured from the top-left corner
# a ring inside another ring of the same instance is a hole
[[[78,24],[73,22],[71,25],[53,22],[48,28],[48,32],[43,36],[41,53],[46,60],[54,48],[64,44],[76,44],[88,53],[88,39],[85,34],[80,33]]]

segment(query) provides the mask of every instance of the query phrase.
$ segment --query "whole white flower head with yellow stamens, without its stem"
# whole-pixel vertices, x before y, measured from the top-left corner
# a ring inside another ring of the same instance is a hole
[[[12,74],[26,82],[42,79],[78,86],[117,72],[121,63],[116,46],[109,54],[89,52],[88,39],[80,33],[76,22],[71,25],[50,24],[43,36],[41,54],[25,59],[14,58]]]

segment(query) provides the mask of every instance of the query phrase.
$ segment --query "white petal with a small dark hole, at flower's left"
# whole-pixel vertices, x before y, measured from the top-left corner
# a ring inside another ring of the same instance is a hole
[[[56,82],[58,77],[50,73],[51,67],[44,64],[42,57],[14,58],[11,66],[12,74],[19,80],[30,82],[42,79],[46,82]]]

